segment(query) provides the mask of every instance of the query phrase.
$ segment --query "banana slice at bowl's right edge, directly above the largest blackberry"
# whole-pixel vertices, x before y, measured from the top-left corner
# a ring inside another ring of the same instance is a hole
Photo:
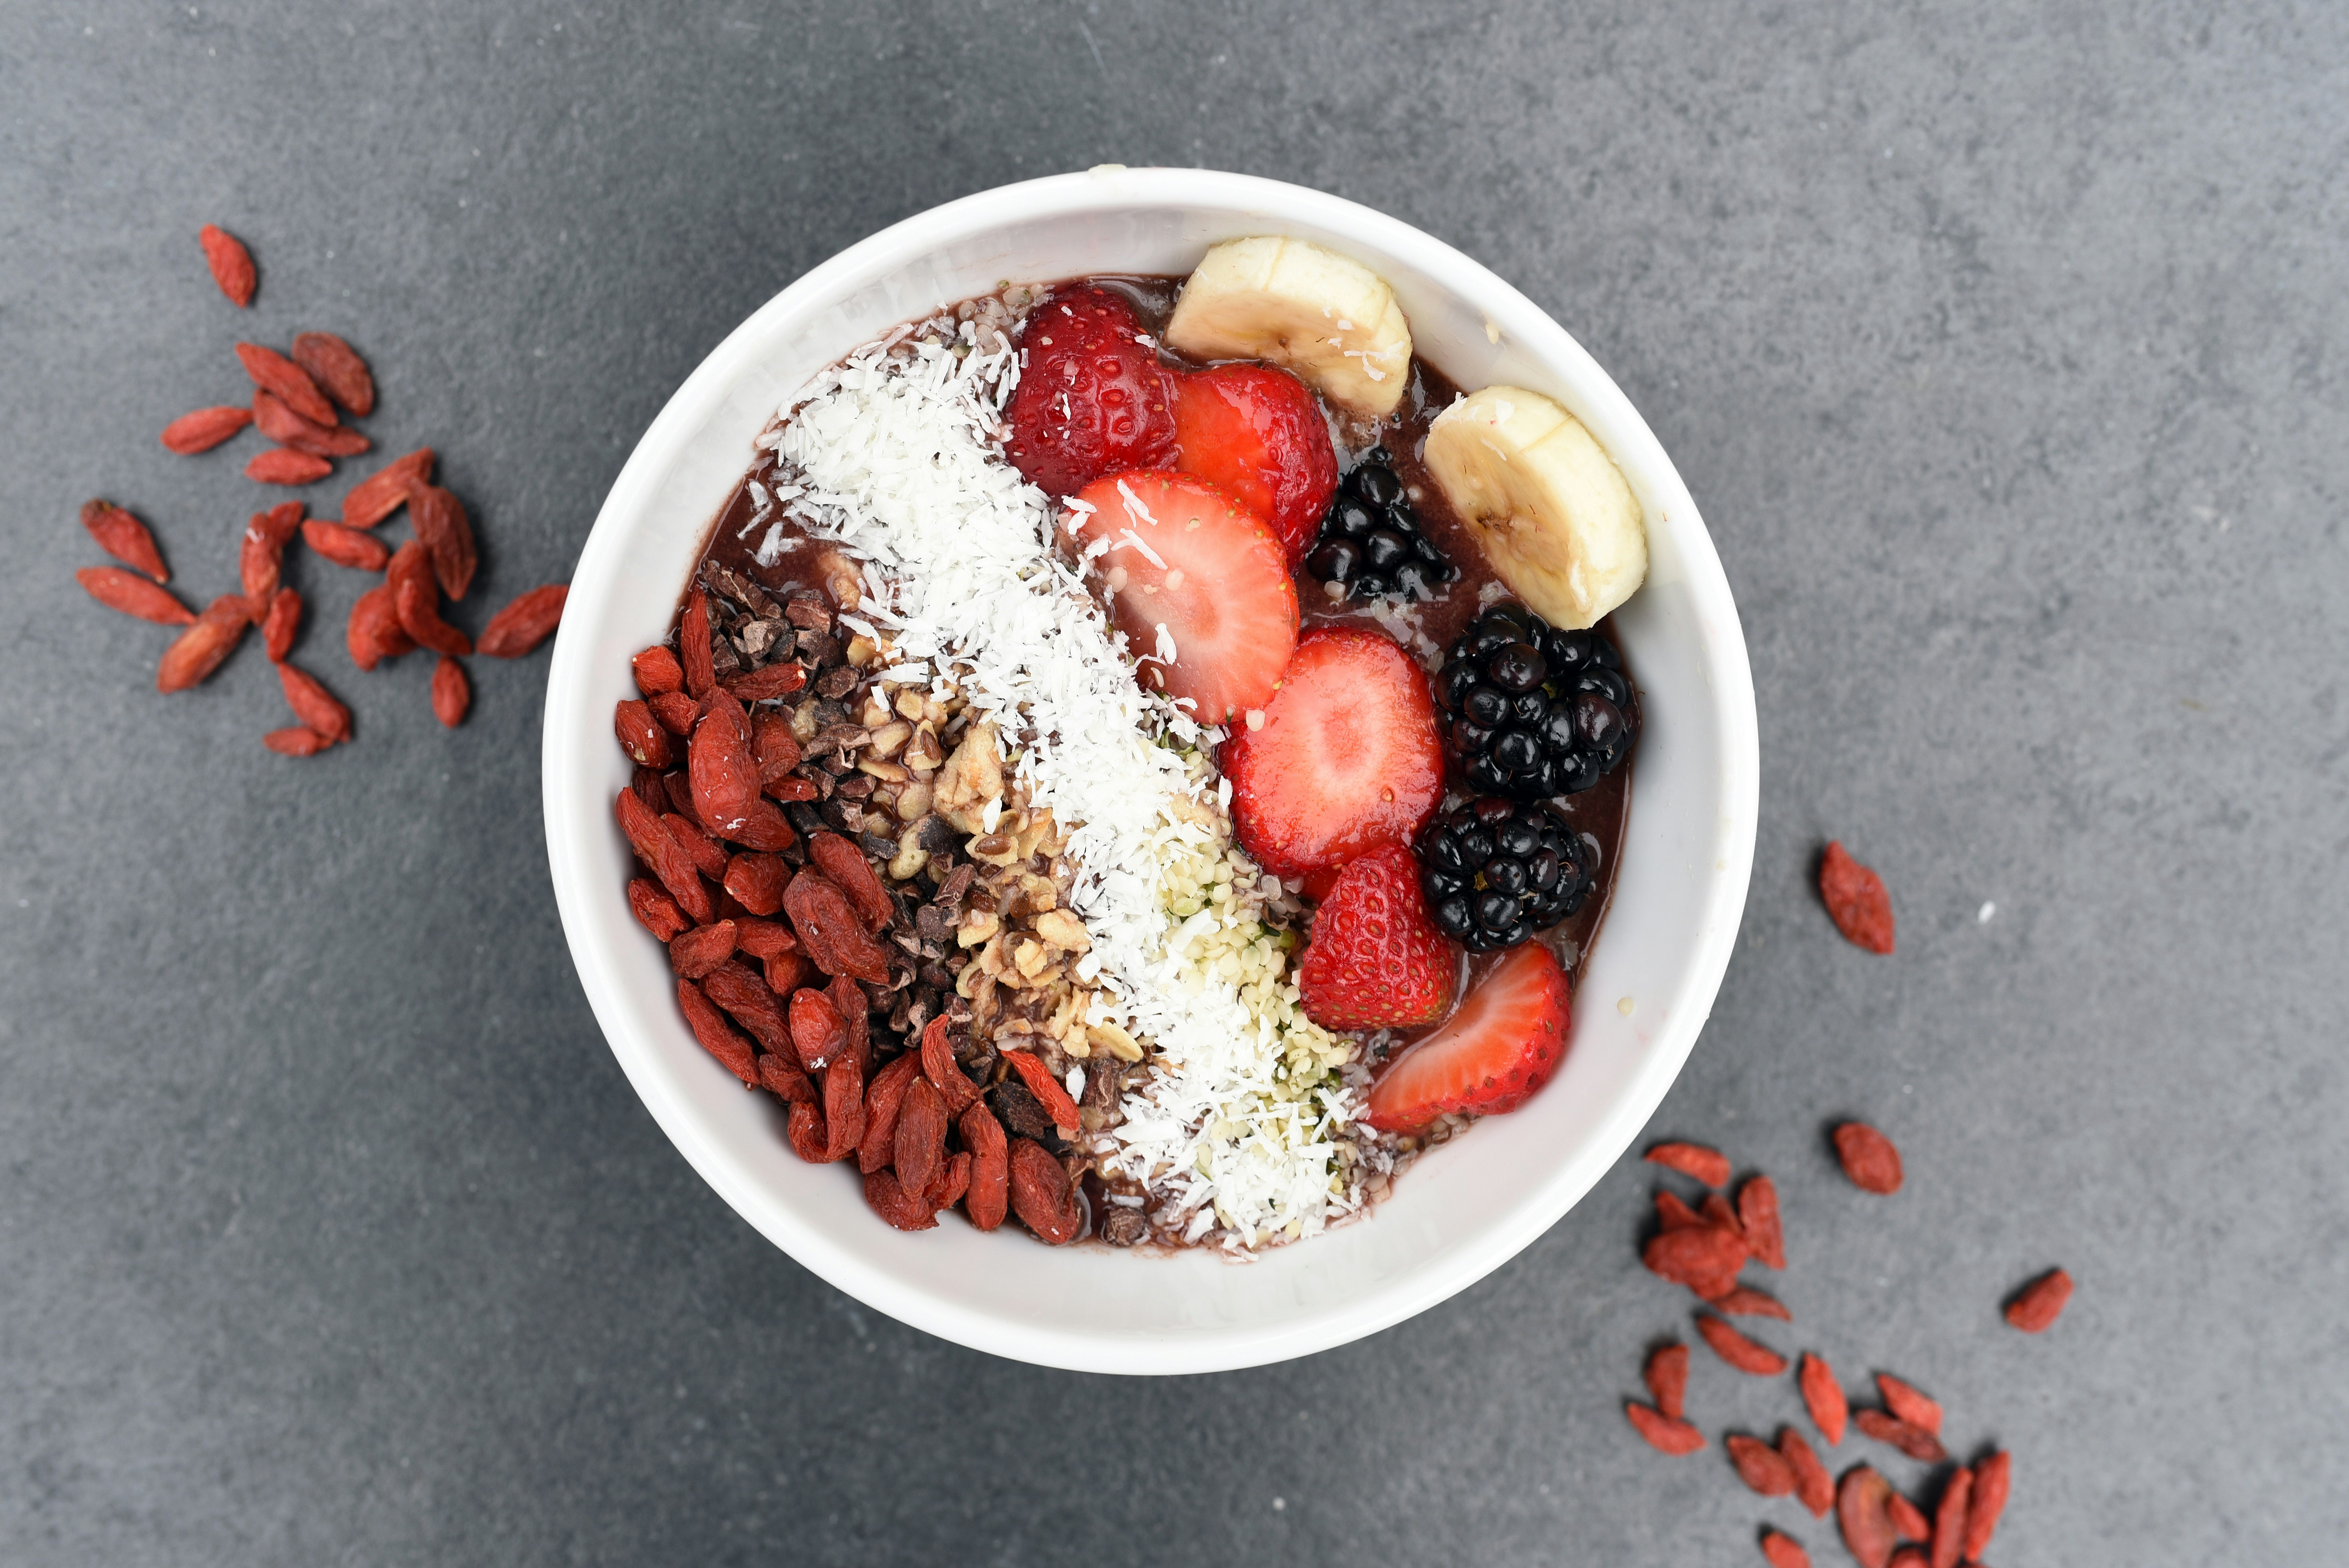
[[[1428,425],[1426,465],[1517,599],[1590,627],[1647,577],[1647,519],[1583,423],[1541,392],[1485,387]]]

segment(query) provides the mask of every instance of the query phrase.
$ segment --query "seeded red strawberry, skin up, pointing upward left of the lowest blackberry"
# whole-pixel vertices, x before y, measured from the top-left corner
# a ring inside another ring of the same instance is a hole
[[[1381,845],[1337,873],[1297,962],[1306,1016],[1322,1028],[1402,1028],[1452,1009],[1459,948],[1428,915],[1419,861]]]

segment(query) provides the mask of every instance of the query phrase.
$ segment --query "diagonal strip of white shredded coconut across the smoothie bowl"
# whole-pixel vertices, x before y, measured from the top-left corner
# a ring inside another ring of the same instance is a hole
[[[1073,824],[1078,974],[1104,998],[1088,1021],[1153,1047],[1095,1157],[1186,1242],[1315,1235],[1358,1209],[1355,1045],[1297,1002],[1268,878],[1233,847],[1205,761],[1219,732],[1139,685],[1052,547],[1052,502],[1003,460],[1017,380],[1017,350],[968,322],[860,347],[761,437],[796,469],[778,500],[867,561],[881,681],[958,690],[1017,739],[1029,803]]]

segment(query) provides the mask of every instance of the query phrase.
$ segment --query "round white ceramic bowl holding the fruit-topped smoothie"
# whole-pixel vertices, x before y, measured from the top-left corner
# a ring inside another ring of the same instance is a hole
[[[1647,587],[1616,615],[1647,735],[1614,908],[1557,1080],[1433,1150],[1367,1221],[1252,1265],[1045,1249],[956,1221],[900,1235],[841,1167],[801,1164],[763,1094],[686,1030],[669,965],[627,911],[611,711],[667,634],[752,437],[815,371],[883,329],[1005,279],[1189,272],[1214,242],[1283,232],[1386,277],[1421,354],[1466,387],[1557,397],[1647,507]],[[857,1300],[996,1354],[1198,1373],[1325,1350],[1421,1312],[1548,1230],[1640,1134],[1719,988],[1752,864],[1757,753],[1745,638],[1670,458],[1562,326],[1459,251],[1318,190],[1198,169],[1095,169],[907,218],[778,293],[679,387],[611,488],[571,580],[547,681],[547,859],[613,1054],[693,1169],[775,1246]]]

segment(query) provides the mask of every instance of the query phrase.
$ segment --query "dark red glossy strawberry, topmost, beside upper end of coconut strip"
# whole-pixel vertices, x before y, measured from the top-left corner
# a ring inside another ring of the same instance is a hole
[[[1003,455],[1050,495],[1174,455],[1174,373],[1109,289],[1062,289],[1019,329]]]

